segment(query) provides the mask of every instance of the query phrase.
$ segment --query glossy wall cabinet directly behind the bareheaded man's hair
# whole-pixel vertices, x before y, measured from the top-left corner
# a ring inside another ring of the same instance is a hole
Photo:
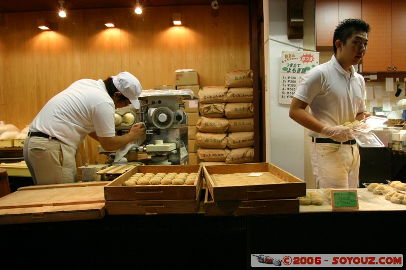
[[[348,18],[362,17],[361,0],[316,0],[316,49],[333,51],[337,24]]]

